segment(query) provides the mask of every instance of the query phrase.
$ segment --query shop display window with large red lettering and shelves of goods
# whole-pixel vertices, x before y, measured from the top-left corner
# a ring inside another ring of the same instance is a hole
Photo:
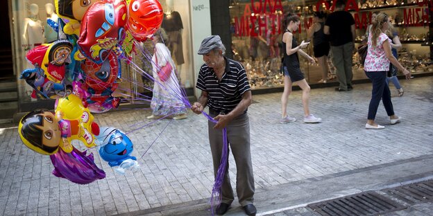
[[[246,67],[253,89],[282,87],[280,65],[282,51],[282,18],[286,12],[294,12],[300,17],[300,28],[294,33],[298,43],[312,41],[308,30],[317,21],[316,12],[329,14],[334,10],[334,1],[279,1],[279,0],[232,0],[230,1],[230,31],[232,33],[233,57]],[[366,28],[371,24],[371,13],[375,10],[387,12],[396,27],[402,42],[398,56],[400,62],[407,66],[411,73],[433,71],[430,64],[430,1],[420,0],[350,0],[346,3],[355,19],[355,46],[362,43]],[[325,21],[325,19],[323,19]],[[310,35],[311,36],[311,35]],[[303,49],[314,56],[313,41]],[[310,64],[303,57],[299,58],[300,69],[309,84],[337,82],[336,69],[332,64],[332,51],[328,53],[328,73],[319,65]],[[353,55],[353,80],[367,79],[359,56]]]

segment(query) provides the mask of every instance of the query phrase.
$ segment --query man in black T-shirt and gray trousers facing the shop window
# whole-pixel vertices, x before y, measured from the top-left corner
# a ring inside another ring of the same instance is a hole
[[[339,87],[336,91],[353,89],[353,51],[355,49],[355,19],[350,12],[344,11],[345,1],[338,0],[335,10],[325,21],[323,32],[330,35],[332,62],[337,69]]]

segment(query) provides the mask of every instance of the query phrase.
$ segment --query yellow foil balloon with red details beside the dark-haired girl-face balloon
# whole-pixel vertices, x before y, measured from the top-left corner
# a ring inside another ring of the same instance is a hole
[[[99,125],[94,123],[90,110],[83,106],[81,99],[74,94],[56,101],[56,118],[62,132],[71,140],[79,140],[87,147],[95,146],[94,135],[99,134]],[[71,152],[71,149],[65,150]]]

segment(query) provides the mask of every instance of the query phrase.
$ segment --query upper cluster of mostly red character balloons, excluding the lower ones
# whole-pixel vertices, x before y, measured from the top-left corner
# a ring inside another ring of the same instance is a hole
[[[119,106],[112,93],[121,78],[121,59],[130,59],[135,42],[160,28],[163,19],[158,0],[56,0],[60,19],[48,23],[61,39],[28,51],[34,68],[21,78],[34,89],[33,98],[60,98],[82,82],[81,97],[92,112]],[[83,82],[84,81],[84,82]]]

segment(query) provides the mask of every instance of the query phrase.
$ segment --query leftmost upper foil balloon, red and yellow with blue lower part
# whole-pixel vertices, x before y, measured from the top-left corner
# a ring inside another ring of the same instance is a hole
[[[20,78],[33,88],[33,98],[58,98],[71,92],[66,90],[64,82],[71,51],[72,44],[67,40],[42,44],[28,51],[26,59],[35,68],[24,70]]]

